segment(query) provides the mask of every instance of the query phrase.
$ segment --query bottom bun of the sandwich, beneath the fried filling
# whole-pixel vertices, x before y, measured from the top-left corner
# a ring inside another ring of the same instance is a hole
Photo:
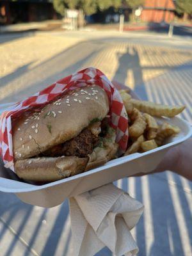
[[[107,163],[115,157],[117,150],[118,144],[115,143],[113,134],[110,140],[104,141],[103,147],[94,148],[92,154],[88,157],[35,157],[18,160],[15,163],[15,171],[20,179],[35,182],[52,182]]]

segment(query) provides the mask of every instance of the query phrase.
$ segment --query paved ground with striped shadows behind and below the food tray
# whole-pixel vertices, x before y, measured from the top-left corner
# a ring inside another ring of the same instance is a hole
[[[41,35],[41,44],[38,36],[38,49],[31,46],[34,36],[0,46],[6,51],[0,68],[1,102],[20,100],[79,68],[95,66],[110,79],[129,84],[143,99],[186,104],[182,117],[192,122],[192,52],[188,47],[166,47],[168,41],[152,45],[142,38],[137,42],[134,39],[133,44],[131,38],[113,36],[113,40],[94,38],[62,49],[60,42],[67,44],[66,38],[57,35],[49,38],[50,45],[59,40],[58,49],[54,49],[55,53],[50,49],[49,55],[49,47],[47,52],[44,49],[47,35]],[[145,205],[140,223],[132,230],[140,247],[139,256],[191,255],[192,182],[164,172],[118,180],[116,184]],[[70,243],[67,201],[52,209],[42,209],[20,202],[15,195],[0,193],[1,256],[72,256]],[[103,255],[111,253],[106,248],[97,253]]]

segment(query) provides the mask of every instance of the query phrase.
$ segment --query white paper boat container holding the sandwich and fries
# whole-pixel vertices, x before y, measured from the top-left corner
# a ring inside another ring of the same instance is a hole
[[[0,113],[2,111],[4,109],[1,109]],[[164,119],[157,118],[157,121],[161,123]],[[1,161],[0,191],[15,193],[20,200],[28,204],[54,207],[70,196],[81,194],[136,173],[151,172],[163,159],[169,148],[187,140],[192,134],[191,125],[185,120],[175,117],[166,119],[166,122],[179,126],[181,132],[167,140],[162,147],[142,154],[136,153],[120,157],[88,172],[44,185],[23,182],[11,170],[4,168]]]

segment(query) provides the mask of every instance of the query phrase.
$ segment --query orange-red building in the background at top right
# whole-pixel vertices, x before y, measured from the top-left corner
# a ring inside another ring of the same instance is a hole
[[[145,22],[171,22],[175,17],[172,0],[145,0],[140,19]]]

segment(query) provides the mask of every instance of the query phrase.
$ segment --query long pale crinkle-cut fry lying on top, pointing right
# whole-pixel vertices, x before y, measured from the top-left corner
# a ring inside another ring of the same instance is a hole
[[[130,102],[132,102],[134,108],[137,108],[141,112],[148,113],[152,116],[173,117],[181,113],[185,108],[185,106],[168,106],[136,99],[131,99]]]

